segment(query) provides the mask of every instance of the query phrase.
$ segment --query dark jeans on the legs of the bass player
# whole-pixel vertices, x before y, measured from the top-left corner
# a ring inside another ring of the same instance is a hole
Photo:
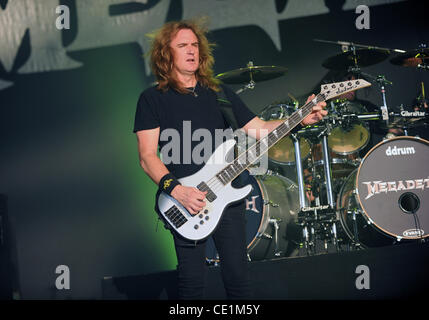
[[[228,299],[251,298],[246,244],[245,203],[229,206],[212,234]],[[178,260],[179,299],[204,299],[206,240],[190,242],[173,232]]]

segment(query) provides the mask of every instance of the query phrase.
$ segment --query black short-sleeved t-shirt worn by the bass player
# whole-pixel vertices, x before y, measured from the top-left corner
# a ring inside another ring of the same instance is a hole
[[[238,125],[243,127],[255,114],[231,89],[223,85],[222,89],[232,104]],[[201,169],[205,160],[222,142],[216,135],[219,137],[219,133],[229,127],[218,105],[216,92],[197,84],[195,93],[197,96],[182,94],[174,89],[163,92],[151,87],[140,95],[137,103],[134,132],[160,128],[158,147],[162,160],[177,178],[189,176]],[[201,147],[202,142],[207,142],[204,139],[211,140],[210,152]],[[198,152],[192,154],[194,150]]]

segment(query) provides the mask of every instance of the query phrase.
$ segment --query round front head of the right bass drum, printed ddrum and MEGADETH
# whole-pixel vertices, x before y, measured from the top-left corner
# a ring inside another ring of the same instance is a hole
[[[359,166],[356,189],[366,220],[398,240],[429,234],[429,142],[385,140]]]

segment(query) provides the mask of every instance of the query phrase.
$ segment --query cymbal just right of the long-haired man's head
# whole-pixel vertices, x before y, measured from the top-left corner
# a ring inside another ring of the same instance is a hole
[[[277,66],[249,66],[220,73],[216,76],[228,84],[248,83],[250,81],[271,80],[285,75],[287,68]]]

